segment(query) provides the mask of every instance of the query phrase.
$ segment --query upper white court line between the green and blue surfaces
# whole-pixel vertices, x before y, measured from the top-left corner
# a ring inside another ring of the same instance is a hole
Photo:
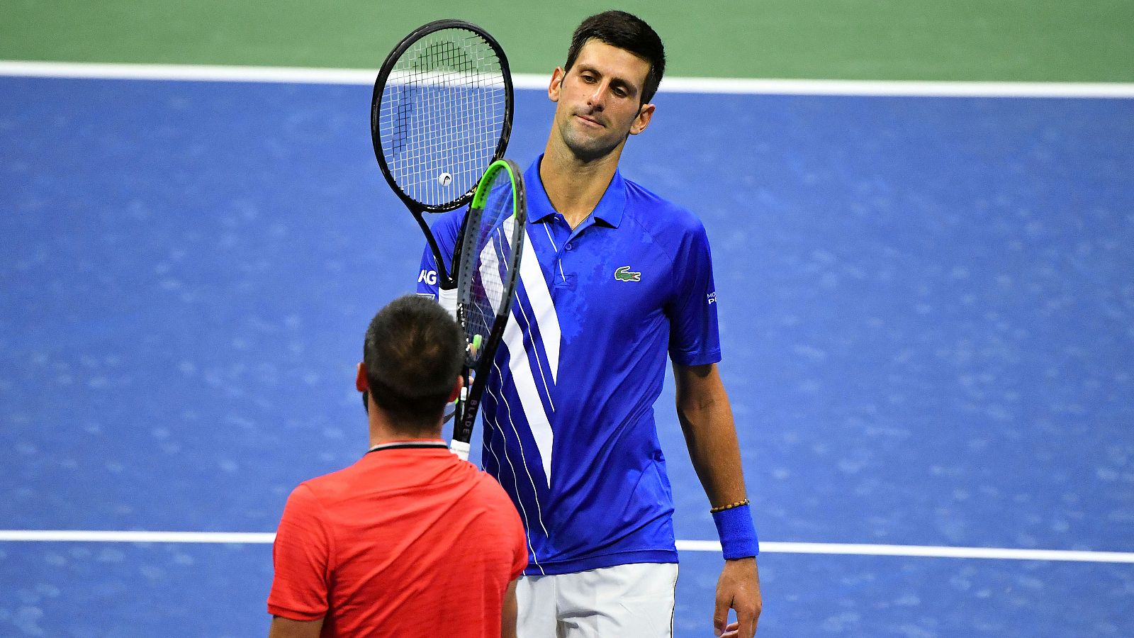
[[[208,65],[122,65],[0,60],[0,75],[102,79],[279,82],[373,85],[376,69],[247,67]],[[550,74],[515,74],[516,89],[545,90]],[[857,79],[746,79],[669,77],[670,93],[778,95],[907,95],[933,98],[1134,98],[1134,83],[1118,82],[922,82]]]

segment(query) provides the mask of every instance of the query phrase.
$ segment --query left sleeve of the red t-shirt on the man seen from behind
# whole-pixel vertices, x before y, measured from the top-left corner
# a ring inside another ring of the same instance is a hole
[[[327,614],[332,547],[321,513],[306,485],[288,496],[272,545],[276,577],[268,595],[268,613],[304,621]]]

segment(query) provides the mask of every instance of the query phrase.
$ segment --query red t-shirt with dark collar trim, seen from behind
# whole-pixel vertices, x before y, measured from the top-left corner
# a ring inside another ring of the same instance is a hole
[[[446,448],[392,448],[296,487],[272,556],[268,612],[323,618],[322,636],[498,637],[527,542],[496,479]]]

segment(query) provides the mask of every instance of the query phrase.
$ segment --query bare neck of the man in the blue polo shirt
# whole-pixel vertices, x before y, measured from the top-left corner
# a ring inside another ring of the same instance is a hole
[[[572,228],[582,224],[599,205],[615,177],[621,154],[623,146],[619,145],[601,158],[586,161],[565,145],[548,141],[543,161],[540,162],[540,181],[552,208],[564,216]]]

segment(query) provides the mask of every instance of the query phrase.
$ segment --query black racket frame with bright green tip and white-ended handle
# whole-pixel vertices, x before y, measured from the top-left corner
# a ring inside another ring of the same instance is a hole
[[[488,381],[489,372],[493,362],[496,361],[496,352],[500,346],[500,341],[503,337],[505,327],[508,325],[508,320],[511,317],[511,302],[516,293],[516,280],[519,277],[519,265],[524,257],[524,235],[526,233],[525,226],[527,223],[527,195],[524,191],[524,177],[519,167],[516,162],[509,159],[499,159],[489,166],[489,169],[481,177],[480,184],[476,187],[476,192],[473,196],[472,204],[468,207],[468,215],[465,217],[465,228],[466,233],[462,237],[460,246],[460,272],[471,272],[476,268],[476,228],[480,227],[481,215],[484,211],[484,201],[486,200],[488,192],[491,190],[492,178],[496,173],[500,170],[507,170],[509,178],[513,184],[513,215],[514,226],[513,226],[513,251],[509,255],[509,268],[507,280],[501,282],[503,284],[503,294],[500,296],[500,307],[496,311],[496,318],[492,321],[492,328],[489,330],[488,341],[480,345],[479,356],[475,361],[472,361],[472,356],[466,356],[465,366],[462,369],[462,375],[464,376],[464,387],[460,392],[460,397],[457,400],[456,418],[452,425],[452,444],[451,448],[462,459],[468,459],[468,442],[473,436],[473,427],[476,422],[476,414],[481,404],[481,395],[484,393],[484,385]],[[467,245],[464,245],[467,244]],[[456,259],[456,258],[455,258]],[[457,321],[460,324],[462,329],[465,331],[465,339],[467,342],[467,347],[471,350],[473,345],[473,338],[468,335],[467,326],[467,308],[472,297],[472,283],[474,277],[467,277],[457,291]]]

